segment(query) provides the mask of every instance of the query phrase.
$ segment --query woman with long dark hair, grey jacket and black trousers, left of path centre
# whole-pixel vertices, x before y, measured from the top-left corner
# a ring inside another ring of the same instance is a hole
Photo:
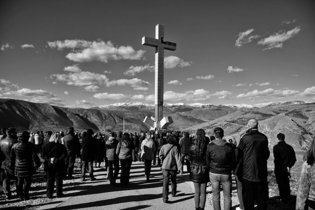
[[[118,155],[121,166],[120,184],[122,184],[124,187],[128,187],[129,185],[130,168],[132,164],[132,150],[134,149],[135,144],[131,141],[129,134],[124,133],[116,149],[116,155]]]

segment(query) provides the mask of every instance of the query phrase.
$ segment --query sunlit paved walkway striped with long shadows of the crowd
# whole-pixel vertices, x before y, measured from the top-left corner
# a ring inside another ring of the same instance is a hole
[[[184,170],[186,171],[186,168]],[[96,178],[96,181],[85,181],[71,191],[65,192],[66,197],[55,198],[40,209],[195,209],[193,185],[188,180],[188,173],[178,174],[177,195],[172,197],[169,194],[169,203],[163,203],[163,177],[160,167],[152,166],[151,181],[147,182],[143,162],[133,162],[128,188],[120,186],[119,177],[117,186],[110,185],[105,179],[105,172],[100,173]],[[210,209],[208,199],[206,209]]]

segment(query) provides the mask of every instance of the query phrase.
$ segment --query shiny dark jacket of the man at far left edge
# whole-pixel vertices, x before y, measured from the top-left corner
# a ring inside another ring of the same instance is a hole
[[[12,137],[6,137],[2,140],[0,140],[0,149],[3,152],[3,155],[5,157],[4,161],[2,162],[1,168],[9,171],[11,173],[11,149],[12,146],[18,143],[18,140],[12,138]]]

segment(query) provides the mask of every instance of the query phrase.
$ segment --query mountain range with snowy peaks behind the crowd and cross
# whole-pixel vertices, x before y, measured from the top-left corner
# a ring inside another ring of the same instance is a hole
[[[16,99],[0,99],[0,127],[18,130],[66,130],[73,126],[82,131],[92,128],[138,132],[148,129],[142,122],[154,115],[154,105],[116,103],[90,109],[64,108]],[[165,104],[164,116],[171,116],[170,129],[194,132],[203,128],[211,135],[213,128],[225,130],[225,137],[237,141],[247,129],[251,118],[259,120],[259,130],[268,136],[270,145],[277,143],[276,135],[285,133],[286,141],[296,149],[305,149],[315,132],[315,103],[303,101],[278,102],[264,107],[251,105]]]

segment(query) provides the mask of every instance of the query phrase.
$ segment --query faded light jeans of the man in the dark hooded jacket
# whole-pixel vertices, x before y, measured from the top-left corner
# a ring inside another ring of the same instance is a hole
[[[212,187],[213,209],[221,210],[220,184],[222,184],[224,196],[224,210],[232,209],[232,176],[225,174],[209,173]]]

